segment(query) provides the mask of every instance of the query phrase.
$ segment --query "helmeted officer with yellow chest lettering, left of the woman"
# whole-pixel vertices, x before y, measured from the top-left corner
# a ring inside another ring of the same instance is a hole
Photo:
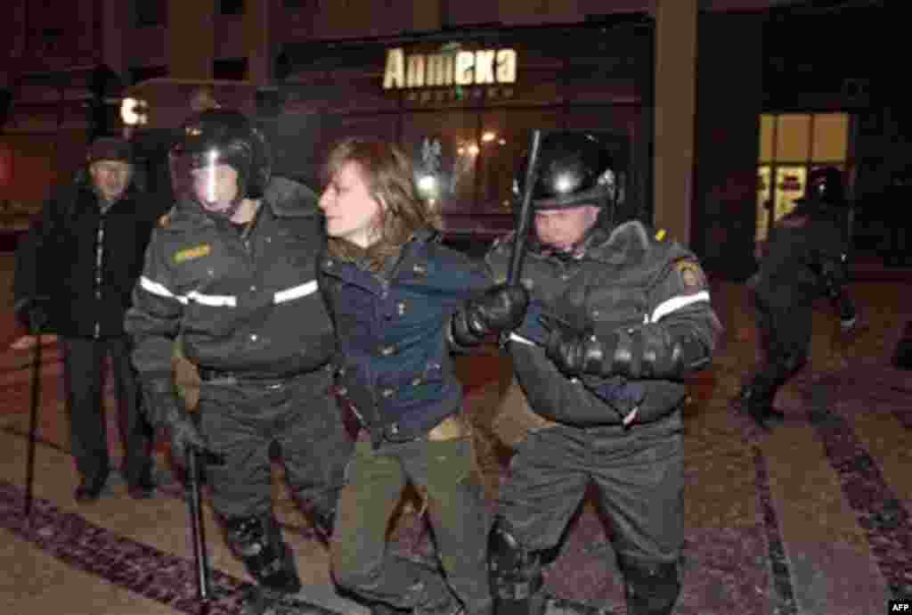
[[[330,393],[333,328],[316,285],[325,245],[316,194],[271,177],[259,130],[229,109],[202,111],[171,151],[179,195],[156,229],[127,315],[150,417],[210,464],[212,504],[259,584],[246,612],[301,587],[275,521],[270,449],[328,534],[352,447]],[[199,430],[178,401],[174,339],[198,366]],[[265,589],[265,590],[264,590]]]

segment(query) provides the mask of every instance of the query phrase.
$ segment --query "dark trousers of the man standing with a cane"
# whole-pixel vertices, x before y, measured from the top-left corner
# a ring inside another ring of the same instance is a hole
[[[130,362],[127,338],[64,338],[64,388],[67,395],[70,445],[79,474],[101,485],[110,471],[103,388],[107,358],[118,401],[122,472],[131,485],[151,469],[151,428],[140,412],[139,381]]]

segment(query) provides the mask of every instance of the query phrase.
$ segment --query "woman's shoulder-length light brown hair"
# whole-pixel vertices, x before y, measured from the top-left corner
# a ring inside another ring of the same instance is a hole
[[[326,180],[348,162],[357,165],[368,192],[380,205],[376,220],[379,238],[365,250],[347,240],[330,237],[329,252],[347,260],[367,258],[370,270],[380,271],[416,231],[438,227],[439,218],[419,196],[409,157],[393,143],[362,137],[338,142],[326,160]]]

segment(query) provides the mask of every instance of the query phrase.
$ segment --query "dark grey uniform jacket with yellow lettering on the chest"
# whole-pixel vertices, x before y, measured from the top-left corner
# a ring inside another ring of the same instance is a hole
[[[316,284],[325,239],[316,195],[274,178],[240,232],[190,200],[152,235],[126,326],[149,392],[173,391],[172,345],[203,374],[281,379],[326,367],[332,324]]]

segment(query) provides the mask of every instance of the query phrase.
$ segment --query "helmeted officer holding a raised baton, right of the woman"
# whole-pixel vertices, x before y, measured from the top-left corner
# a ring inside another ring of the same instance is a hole
[[[616,223],[617,170],[595,136],[546,134],[540,164],[522,276],[532,302],[509,349],[541,424],[515,447],[499,494],[498,610],[542,609],[541,554],[592,482],[614,524],[627,612],[667,614],[683,539],[683,378],[710,362],[720,323],[694,255],[638,221]],[[488,255],[496,280],[512,244]]]

